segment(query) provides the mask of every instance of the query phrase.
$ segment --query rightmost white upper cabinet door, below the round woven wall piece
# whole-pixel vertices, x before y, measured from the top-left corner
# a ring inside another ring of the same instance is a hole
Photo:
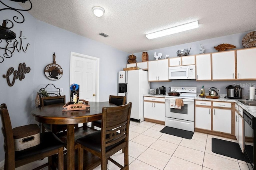
[[[237,79],[256,79],[256,48],[236,51]]]

